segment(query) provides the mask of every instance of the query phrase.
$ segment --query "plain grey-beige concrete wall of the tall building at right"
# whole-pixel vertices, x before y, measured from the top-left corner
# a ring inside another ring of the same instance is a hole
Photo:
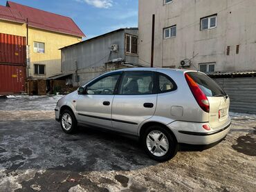
[[[139,59],[149,65],[152,14],[156,15],[154,66],[174,66],[192,58],[191,69],[216,62],[216,71],[256,70],[256,1],[139,0]],[[217,14],[217,28],[200,30],[200,19]],[[163,28],[176,25],[176,37],[163,39]],[[239,45],[239,54],[236,46]],[[226,48],[230,46],[230,55]]]

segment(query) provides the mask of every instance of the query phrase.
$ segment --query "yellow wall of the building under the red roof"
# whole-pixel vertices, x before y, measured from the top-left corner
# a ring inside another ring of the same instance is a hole
[[[26,37],[26,24],[0,20],[0,32]],[[37,28],[28,29],[28,45],[30,46],[30,69],[28,75],[35,78],[46,78],[61,73],[60,48],[80,42],[80,37],[50,32]],[[45,52],[33,51],[34,41],[45,44]],[[34,64],[44,64],[45,75],[34,74]]]

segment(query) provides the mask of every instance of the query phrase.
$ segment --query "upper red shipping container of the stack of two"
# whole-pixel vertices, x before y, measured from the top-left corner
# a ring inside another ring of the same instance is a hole
[[[0,63],[26,64],[26,37],[0,33]]]

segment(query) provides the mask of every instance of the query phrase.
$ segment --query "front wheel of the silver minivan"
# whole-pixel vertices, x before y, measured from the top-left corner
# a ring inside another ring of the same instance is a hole
[[[75,115],[70,110],[64,110],[60,115],[60,126],[62,131],[68,134],[73,134],[77,131],[77,120]]]

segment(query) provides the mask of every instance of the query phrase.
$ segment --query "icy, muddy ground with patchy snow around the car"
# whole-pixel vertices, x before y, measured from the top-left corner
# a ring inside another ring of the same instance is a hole
[[[226,140],[150,160],[134,139],[80,128],[66,135],[61,96],[0,99],[0,191],[255,191],[256,116],[230,113]]]

